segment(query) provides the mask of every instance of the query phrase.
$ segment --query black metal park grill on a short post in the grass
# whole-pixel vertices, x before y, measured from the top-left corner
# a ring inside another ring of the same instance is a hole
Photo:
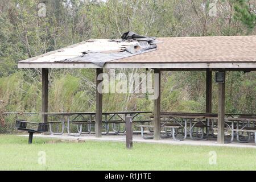
[[[38,129],[28,129],[27,124],[32,124],[32,125],[38,125]],[[33,140],[33,134],[34,133],[46,133],[49,129],[49,124],[48,123],[36,123],[36,122],[29,122],[29,121],[24,121],[24,120],[16,120],[15,127],[17,130],[21,131],[27,131],[29,136],[28,136],[28,144],[32,143]]]

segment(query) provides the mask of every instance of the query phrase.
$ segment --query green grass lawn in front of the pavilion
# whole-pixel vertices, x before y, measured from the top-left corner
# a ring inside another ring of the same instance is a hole
[[[1,170],[255,170],[256,149],[175,146],[134,143],[126,150],[121,142],[51,142],[27,137],[0,135]],[[40,151],[46,164],[39,164]],[[210,165],[210,151],[217,164]]]

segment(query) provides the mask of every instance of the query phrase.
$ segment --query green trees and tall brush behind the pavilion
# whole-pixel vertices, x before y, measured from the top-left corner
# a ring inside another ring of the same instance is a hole
[[[38,4],[46,3],[46,17]],[[209,16],[217,3],[217,17]],[[17,62],[90,38],[141,35],[256,35],[256,1],[223,0],[1,0],[0,100],[5,111],[40,111],[40,69],[17,69]],[[104,72],[109,73],[108,69]],[[116,73],[142,73],[118,69]],[[162,111],[205,111],[205,72],[163,72]],[[49,71],[49,111],[94,111],[93,69]],[[213,82],[213,111],[217,110]],[[228,72],[226,112],[256,113],[255,72]],[[104,94],[104,111],[152,110],[143,94]]]

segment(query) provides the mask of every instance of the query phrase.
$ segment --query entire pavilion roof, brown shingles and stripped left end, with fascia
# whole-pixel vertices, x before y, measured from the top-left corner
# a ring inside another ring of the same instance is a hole
[[[90,39],[19,61],[19,68],[256,68],[256,36]]]

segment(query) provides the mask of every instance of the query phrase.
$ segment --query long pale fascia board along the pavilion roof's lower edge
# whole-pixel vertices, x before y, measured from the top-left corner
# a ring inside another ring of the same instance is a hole
[[[100,68],[93,63],[19,63],[18,68]],[[106,63],[104,68],[161,68],[161,69],[236,69],[256,71],[256,62],[244,63]]]

